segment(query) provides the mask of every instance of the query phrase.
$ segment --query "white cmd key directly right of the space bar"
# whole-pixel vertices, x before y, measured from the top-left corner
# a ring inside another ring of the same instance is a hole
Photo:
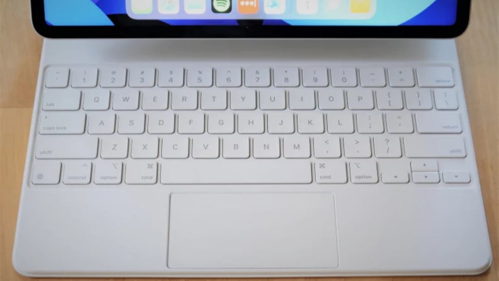
[[[315,181],[323,183],[347,183],[347,165],[343,161],[318,161],[315,163]]]

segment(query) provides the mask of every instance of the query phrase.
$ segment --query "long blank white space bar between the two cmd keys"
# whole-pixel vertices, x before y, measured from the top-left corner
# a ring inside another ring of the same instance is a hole
[[[312,182],[308,161],[165,160],[162,184],[298,184]]]

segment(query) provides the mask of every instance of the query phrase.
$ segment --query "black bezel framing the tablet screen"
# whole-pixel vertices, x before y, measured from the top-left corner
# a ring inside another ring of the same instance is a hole
[[[33,26],[47,38],[454,38],[468,27],[471,0],[459,0],[452,26],[49,26],[31,0]]]

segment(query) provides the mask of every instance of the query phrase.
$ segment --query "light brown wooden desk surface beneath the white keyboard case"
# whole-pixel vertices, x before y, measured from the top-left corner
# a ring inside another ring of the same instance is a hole
[[[459,279],[499,280],[499,187],[495,186],[499,184],[498,15],[497,0],[473,1],[471,26],[458,39],[494,254],[492,268],[487,273]],[[11,254],[41,46],[42,39],[30,24],[28,1],[0,0],[0,280],[5,281],[29,279],[14,271]]]

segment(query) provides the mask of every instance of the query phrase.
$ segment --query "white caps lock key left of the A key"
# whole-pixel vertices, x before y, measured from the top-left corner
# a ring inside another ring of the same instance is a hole
[[[51,112],[40,115],[41,135],[81,135],[85,133],[85,114],[81,112]]]

